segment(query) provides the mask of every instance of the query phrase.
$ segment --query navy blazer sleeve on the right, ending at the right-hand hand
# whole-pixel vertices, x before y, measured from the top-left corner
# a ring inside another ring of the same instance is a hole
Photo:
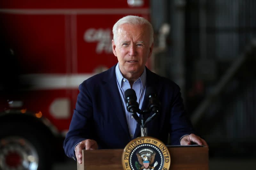
[[[196,133],[185,111],[180,88],[177,86],[173,93],[170,117],[170,137],[172,145],[180,145],[180,138],[184,135]]]

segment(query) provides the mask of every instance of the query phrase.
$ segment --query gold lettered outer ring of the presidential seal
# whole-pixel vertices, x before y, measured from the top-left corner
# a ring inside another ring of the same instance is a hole
[[[164,155],[164,165],[163,170],[169,170],[171,165],[171,155],[168,150],[168,148],[165,146],[165,144],[160,141],[159,139],[156,139],[154,137],[137,137],[130,141],[124,148],[123,154],[122,154],[122,165],[124,170],[132,170],[129,164],[129,158],[131,151],[140,144],[152,144],[155,145]]]

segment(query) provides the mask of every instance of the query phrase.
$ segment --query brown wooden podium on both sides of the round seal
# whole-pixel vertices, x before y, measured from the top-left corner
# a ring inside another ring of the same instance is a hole
[[[209,170],[208,147],[169,146],[170,170]],[[83,150],[77,170],[123,170],[123,149]]]

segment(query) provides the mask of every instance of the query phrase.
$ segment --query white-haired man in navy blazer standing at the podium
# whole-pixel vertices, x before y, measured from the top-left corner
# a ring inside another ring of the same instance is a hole
[[[141,110],[148,104],[145,89],[157,89],[161,108],[147,125],[148,136],[166,143],[170,133],[171,144],[207,145],[194,134],[178,85],[145,67],[153,50],[152,25],[144,18],[126,16],[113,26],[113,35],[112,48],[118,63],[79,86],[76,109],[63,144],[67,156],[82,163],[82,149],[124,148],[140,136],[140,125],[125,107],[124,92],[128,88],[135,90]]]

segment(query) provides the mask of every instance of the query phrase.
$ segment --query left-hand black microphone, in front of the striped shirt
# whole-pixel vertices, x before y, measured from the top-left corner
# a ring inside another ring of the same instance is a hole
[[[137,96],[133,89],[127,89],[124,92],[126,108],[128,112],[132,113],[133,118],[141,125],[141,120],[137,115],[137,112],[140,113],[139,104],[137,102]]]

